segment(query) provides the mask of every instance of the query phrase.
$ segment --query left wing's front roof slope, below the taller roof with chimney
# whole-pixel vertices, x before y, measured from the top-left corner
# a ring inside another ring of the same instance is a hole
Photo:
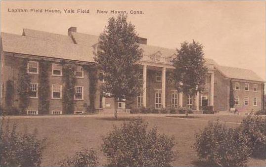
[[[5,52],[94,62],[91,56],[92,47],[8,33],[1,33],[1,39]]]

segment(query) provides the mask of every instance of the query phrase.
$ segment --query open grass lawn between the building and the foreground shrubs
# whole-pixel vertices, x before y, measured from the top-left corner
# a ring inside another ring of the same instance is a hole
[[[241,119],[244,117],[195,115],[188,120],[175,117],[151,117],[147,115],[142,118],[149,123],[149,127],[155,125],[160,133],[175,136],[177,142],[175,149],[178,151],[178,154],[173,166],[197,166],[199,164],[197,153],[192,148],[195,141],[194,133],[208,124],[206,120],[216,121],[219,118],[221,121],[241,122]],[[113,125],[121,125],[123,121],[127,120],[126,117],[120,117],[117,121],[107,117],[68,117],[10,119],[10,123],[16,122],[19,125],[19,130],[22,131],[25,125],[28,126],[28,131],[30,132],[33,132],[36,127],[39,131],[38,136],[40,138],[47,138],[42,166],[56,166],[58,161],[84,148],[96,149],[100,156],[100,165],[104,166],[107,165],[107,160],[100,151],[102,137],[112,129]],[[238,126],[230,123],[225,124],[231,127]],[[250,159],[248,163],[248,166],[265,165],[266,160],[259,159]]]

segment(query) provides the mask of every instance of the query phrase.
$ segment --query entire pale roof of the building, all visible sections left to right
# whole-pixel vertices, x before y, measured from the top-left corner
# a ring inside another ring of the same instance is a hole
[[[93,45],[98,42],[98,36],[75,33],[72,36],[24,29],[23,35],[1,33],[2,49],[5,52],[68,59],[85,62],[95,62]],[[164,57],[172,57],[176,49],[140,44],[144,55],[158,52]],[[252,70],[220,66],[213,59],[206,58],[206,64],[214,65],[227,78],[264,82]]]

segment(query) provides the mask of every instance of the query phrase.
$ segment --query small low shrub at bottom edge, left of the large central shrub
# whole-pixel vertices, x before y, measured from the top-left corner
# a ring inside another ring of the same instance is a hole
[[[59,162],[61,167],[74,166],[74,167],[95,167],[99,164],[99,157],[94,150],[82,150],[76,152],[73,157],[67,158]]]

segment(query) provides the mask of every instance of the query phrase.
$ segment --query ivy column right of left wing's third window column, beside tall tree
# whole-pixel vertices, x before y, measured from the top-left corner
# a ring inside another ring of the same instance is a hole
[[[84,70],[89,74],[89,112],[93,113],[95,112],[95,93],[97,90],[97,68],[95,65],[84,65]]]

